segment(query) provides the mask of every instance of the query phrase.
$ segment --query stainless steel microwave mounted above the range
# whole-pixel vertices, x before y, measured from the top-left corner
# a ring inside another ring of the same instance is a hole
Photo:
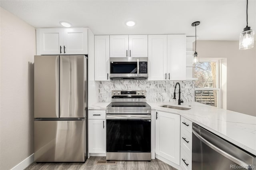
[[[148,57],[110,57],[110,79],[147,79]]]

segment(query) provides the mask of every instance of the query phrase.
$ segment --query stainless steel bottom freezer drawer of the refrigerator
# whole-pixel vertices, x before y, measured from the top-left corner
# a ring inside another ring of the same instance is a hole
[[[34,121],[34,161],[84,162],[84,133],[85,121]]]

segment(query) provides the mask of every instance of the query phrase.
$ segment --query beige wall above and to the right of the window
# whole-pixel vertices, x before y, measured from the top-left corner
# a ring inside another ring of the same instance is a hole
[[[238,47],[238,41],[197,41],[196,51],[204,58],[227,58],[227,109],[256,116],[256,47]]]

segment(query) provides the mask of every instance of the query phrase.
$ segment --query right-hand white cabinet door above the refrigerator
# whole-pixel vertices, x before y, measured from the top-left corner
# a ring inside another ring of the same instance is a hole
[[[87,30],[88,28],[64,29],[64,54],[88,54]]]

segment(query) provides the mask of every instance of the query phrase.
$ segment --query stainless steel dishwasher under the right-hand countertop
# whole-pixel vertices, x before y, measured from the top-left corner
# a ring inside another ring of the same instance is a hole
[[[193,123],[192,170],[256,170],[256,156]]]

